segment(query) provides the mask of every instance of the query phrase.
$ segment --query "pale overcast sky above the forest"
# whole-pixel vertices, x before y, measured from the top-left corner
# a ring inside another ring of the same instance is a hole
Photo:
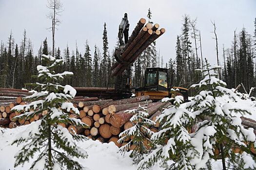
[[[110,52],[118,35],[118,25],[124,13],[128,14],[130,32],[138,20],[146,18],[148,9],[152,11],[152,21],[165,28],[166,33],[157,40],[157,50],[164,62],[175,58],[176,38],[181,34],[182,16],[197,18],[197,29],[201,31],[202,53],[212,64],[216,64],[216,44],[213,39],[213,25],[217,26],[218,50],[222,59],[222,44],[230,47],[234,36],[243,27],[249,34],[254,33],[256,0],[61,0],[64,11],[59,19],[61,24],[56,32],[56,47],[61,52],[68,44],[75,50],[84,52],[86,39],[91,53],[94,45],[102,49],[104,22],[107,24]],[[41,42],[47,37],[51,47],[51,20],[46,17],[49,9],[47,0],[0,0],[0,40],[7,43],[12,30],[15,42],[20,44],[24,29],[34,45],[37,54]],[[192,41],[192,40],[191,40]],[[194,42],[194,40],[192,41]]]

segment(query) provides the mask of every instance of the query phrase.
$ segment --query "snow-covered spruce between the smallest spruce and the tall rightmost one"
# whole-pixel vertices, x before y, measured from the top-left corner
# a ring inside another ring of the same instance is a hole
[[[174,104],[163,110],[156,119],[160,129],[152,135],[153,149],[139,162],[139,169],[149,169],[159,162],[166,170],[194,170],[190,160],[197,156],[197,151],[190,143],[191,137],[187,130],[191,127],[193,115],[180,107],[182,96],[162,100],[167,101]]]

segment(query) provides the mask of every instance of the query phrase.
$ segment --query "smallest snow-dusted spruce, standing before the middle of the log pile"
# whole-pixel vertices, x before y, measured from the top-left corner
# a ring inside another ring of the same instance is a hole
[[[134,148],[130,153],[130,157],[134,159],[136,164],[143,159],[143,154],[148,153],[148,144],[153,134],[148,127],[155,124],[154,121],[147,119],[147,105],[148,104],[139,105],[137,109],[127,111],[129,114],[134,114],[130,121],[135,123],[135,125],[119,134],[119,137],[121,137],[118,140],[119,143],[123,143],[125,139],[131,138],[126,145],[120,147],[119,152],[124,154],[130,150],[130,148]]]

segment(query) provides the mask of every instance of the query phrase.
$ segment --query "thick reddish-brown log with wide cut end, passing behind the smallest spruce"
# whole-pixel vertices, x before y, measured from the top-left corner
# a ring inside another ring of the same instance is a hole
[[[150,103],[147,105],[147,112],[149,114],[148,117],[153,115],[159,107],[163,106],[165,103],[162,102],[155,102],[155,103]],[[137,107],[131,108],[131,109],[137,109]],[[113,114],[110,118],[109,121],[112,126],[115,127],[121,127],[124,123],[129,121],[132,118],[133,114],[125,112],[125,110],[119,111],[116,114]]]

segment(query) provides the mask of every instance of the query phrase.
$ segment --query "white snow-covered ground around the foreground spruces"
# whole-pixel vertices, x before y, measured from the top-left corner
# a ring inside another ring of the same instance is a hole
[[[219,99],[219,102],[222,103],[227,103],[228,101],[233,103],[227,96],[223,96]],[[245,117],[256,120],[256,102],[249,99],[238,99],[234,104],[241,108],[252,109],[252,115],[245,115]],[[14,168],[14,155],[22,146],[17,147],[16,145],[11,145],[16,136],[30,125],[31,124],[20,126],[14,129],[0,128],[0,170],[28,170],[30,168],[33,160],[29,163],[25,163],[23,167],[19,166]],[[79,145],[89,154],[87,159],[79,160],[79,162],[89,170],[137,170],[137,165],[133,164],[132,158],[130,158],[128,154],[122,156],[118,153],[118,147],[113,142],[100,143],[99,141],[90,139],[88,141],[80,142]],[[222,170],[221,160],[213,162],[212,165],[214,170]],[[155,165],[152,170],[163,169],[159,168],[158,165]]]

